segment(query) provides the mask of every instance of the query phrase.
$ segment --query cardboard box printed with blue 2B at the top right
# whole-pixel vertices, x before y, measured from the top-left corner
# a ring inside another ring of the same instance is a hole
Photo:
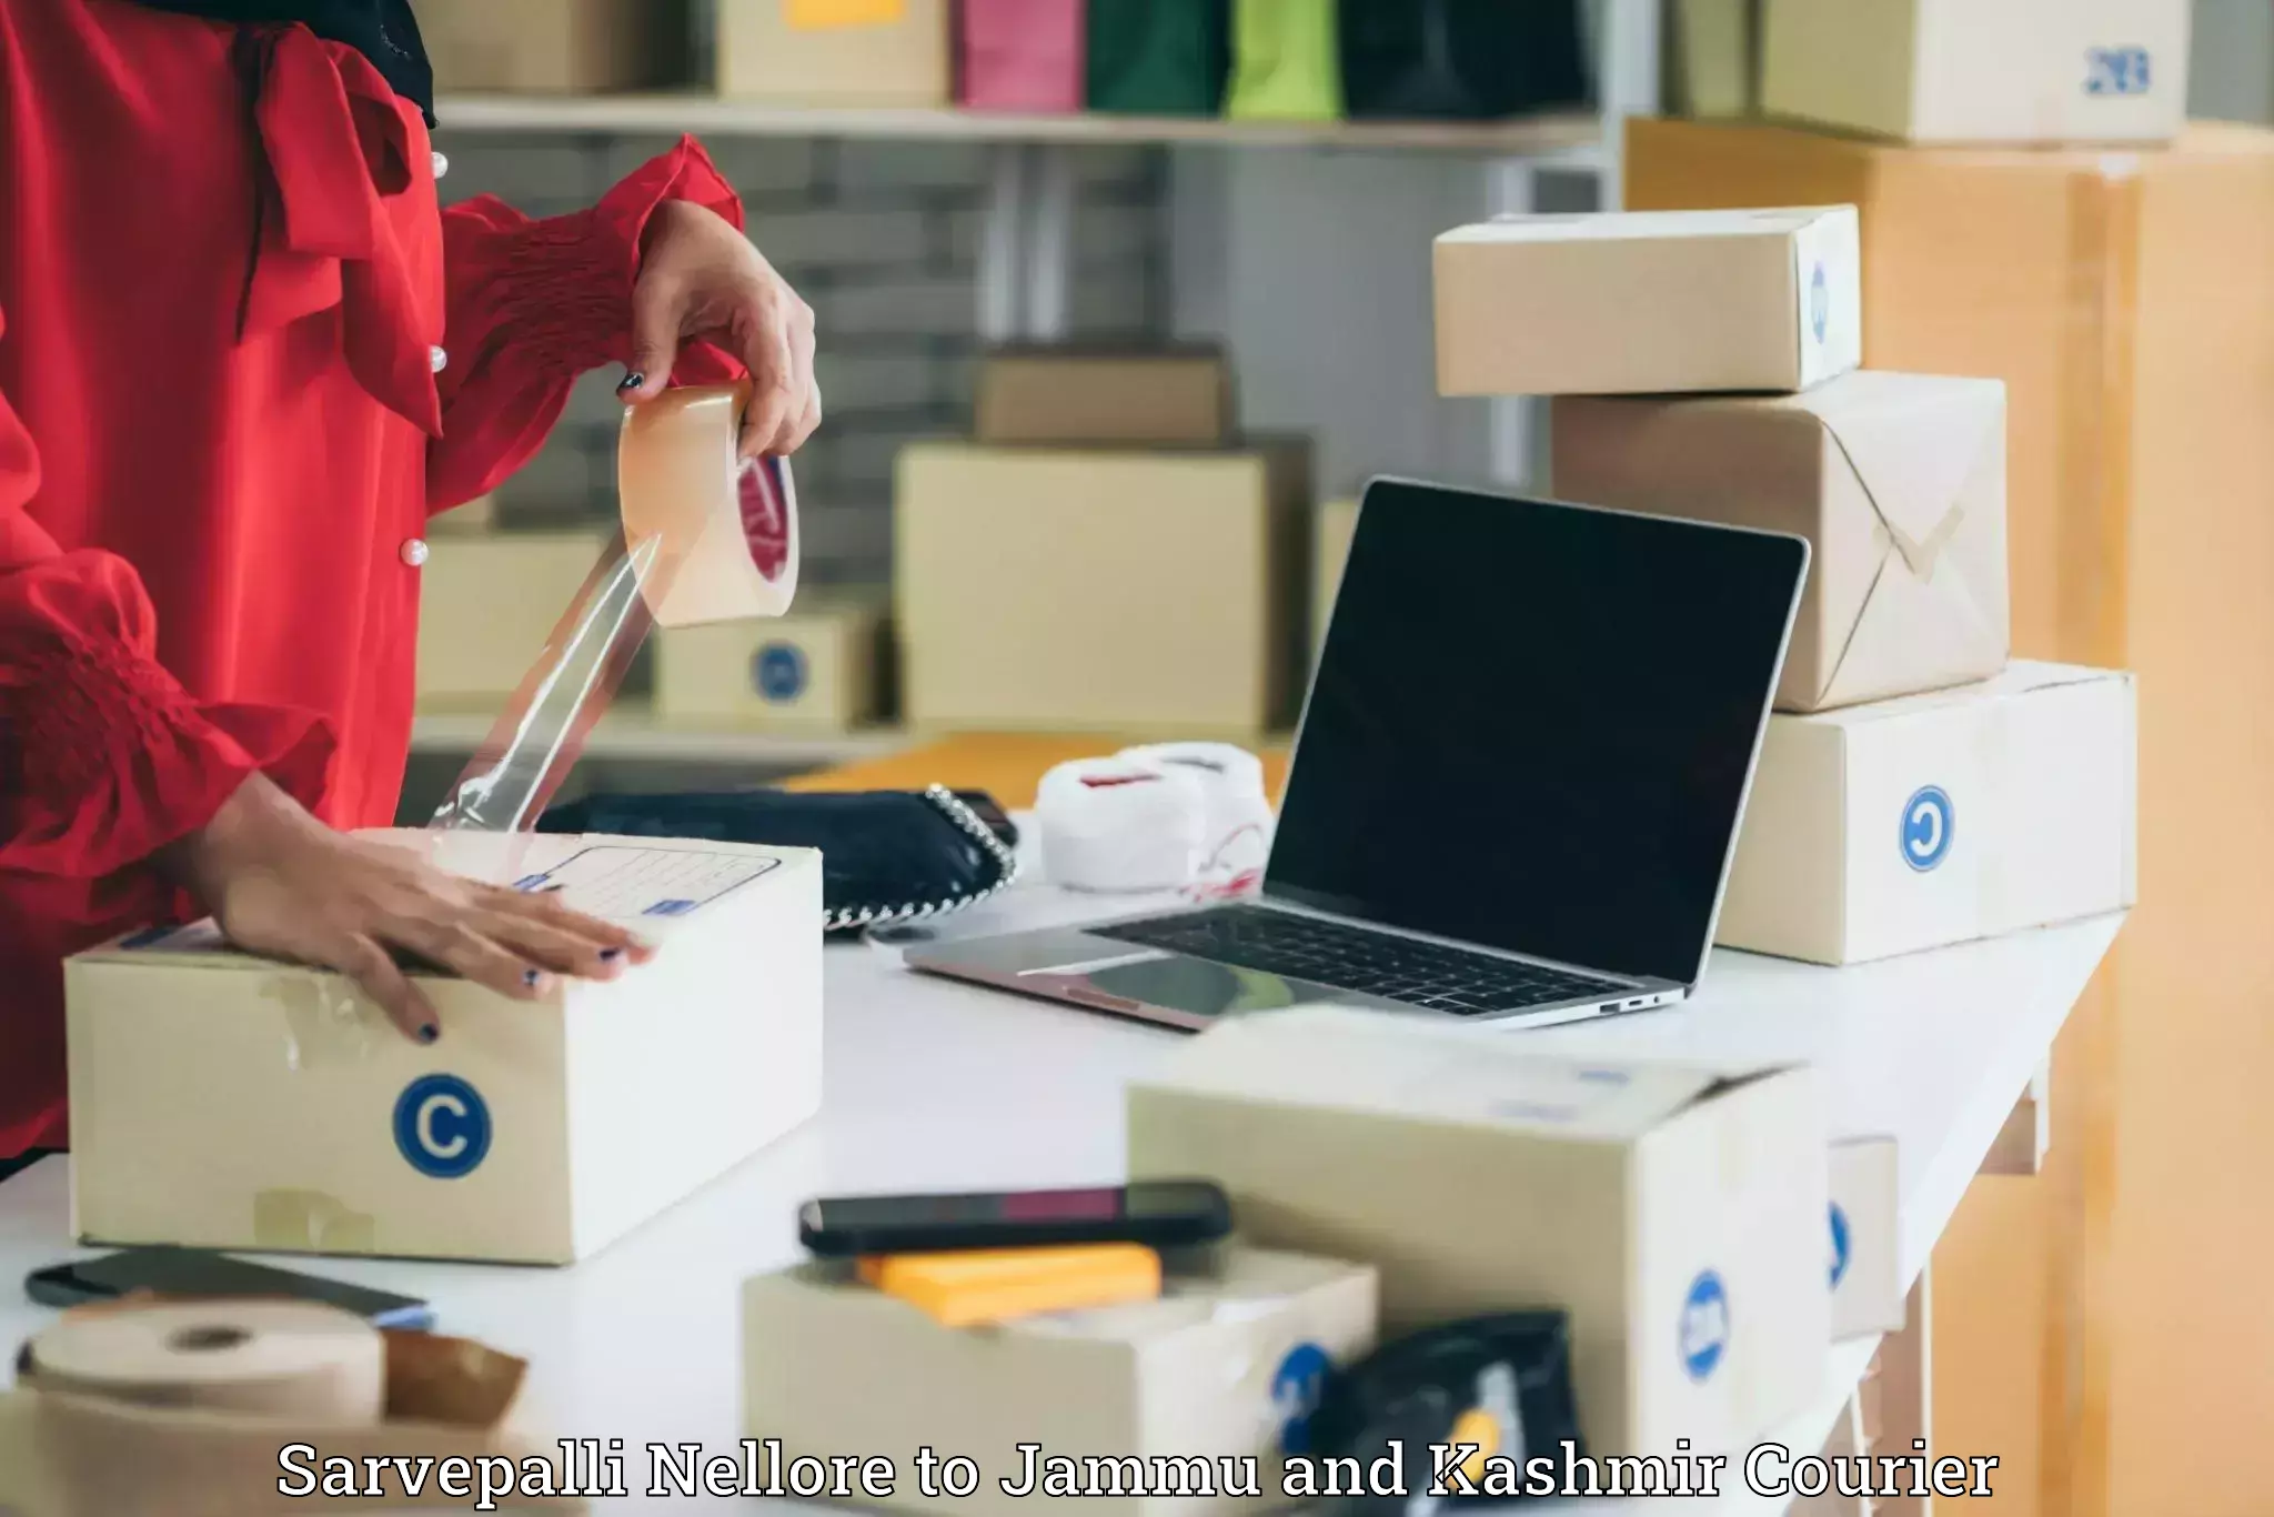
[[[1765,0],[1760,105],[1926,143],[2163,143],[2192,0]]]

